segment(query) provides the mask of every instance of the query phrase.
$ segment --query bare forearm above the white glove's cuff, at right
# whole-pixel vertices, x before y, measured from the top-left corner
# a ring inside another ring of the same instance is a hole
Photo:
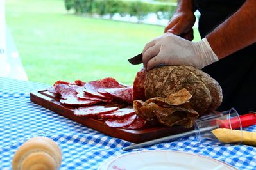
[[[206,36],[219,59],[256,42],[256,1],[241,8]]]

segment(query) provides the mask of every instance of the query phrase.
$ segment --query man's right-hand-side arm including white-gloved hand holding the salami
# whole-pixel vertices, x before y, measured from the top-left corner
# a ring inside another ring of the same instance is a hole
[[[198,42],[165,33],[147,43],[142,52],[144,68],[191,65],[203,68],[256,42],[256,0],[241,8]],[[167,31],[169,32],[169,31]]]

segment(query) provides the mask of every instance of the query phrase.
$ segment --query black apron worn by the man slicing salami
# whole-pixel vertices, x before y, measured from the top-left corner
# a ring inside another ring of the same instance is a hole
[[[199,32],[201,38],[236,12],[245,1],[195,0],[200,11]],[[218,111],[232,107],[239,114],[256,111],[256,43],[205,66],[203,72],[219,82],[223,90],[223,102]]]

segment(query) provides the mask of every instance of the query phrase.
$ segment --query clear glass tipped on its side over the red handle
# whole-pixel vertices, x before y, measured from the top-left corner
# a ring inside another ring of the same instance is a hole
[[[228,111],[213,112],[212,114],[201,116],[201,118],[195,121],[194,128],[196,132],[196,138],[199,141],[205,138],[217,140],[211,131],[216,128],[228,128],[232,130],[240,130],[240,141],[242,142],[243,127],[239,114],[234,108]]]

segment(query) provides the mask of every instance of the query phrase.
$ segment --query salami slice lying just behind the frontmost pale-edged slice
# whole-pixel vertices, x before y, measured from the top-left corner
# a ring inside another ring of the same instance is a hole
[[[135,114],[135,111],[133,108],[122,108],[109,114],[99,114],[98,118],[103,118],[103,119],[124,118],[126,116],[131,116],[133,114]]]

